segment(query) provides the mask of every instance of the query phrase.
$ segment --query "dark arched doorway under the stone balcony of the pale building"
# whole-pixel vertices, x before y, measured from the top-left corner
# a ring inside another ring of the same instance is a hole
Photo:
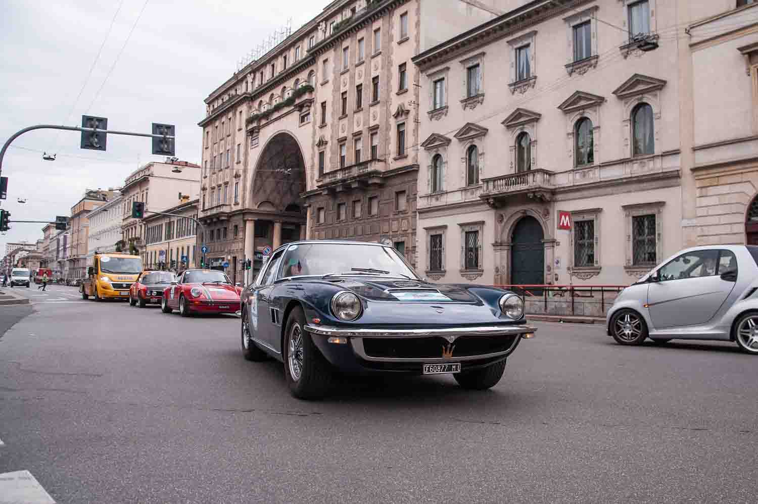
[[[528,215],[513,227],[511,236],[511,283],[545,283],[545,233],[537,219]]]

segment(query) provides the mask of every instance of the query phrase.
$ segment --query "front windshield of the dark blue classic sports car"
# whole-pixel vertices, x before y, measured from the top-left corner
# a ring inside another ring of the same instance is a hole
[[[305,243],[290,246],[284,253],[280,277],[335,273],[418,278],[395,249],[368,243]]]

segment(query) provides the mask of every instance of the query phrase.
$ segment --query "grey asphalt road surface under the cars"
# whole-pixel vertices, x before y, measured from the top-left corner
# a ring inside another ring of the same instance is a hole
[[[0,473],[57,502],[758,500],[758,358],[731,343],[537,323],[493,390],[353,379],[302,402],[242,358],[238,318],[33,300],[0,339]]]

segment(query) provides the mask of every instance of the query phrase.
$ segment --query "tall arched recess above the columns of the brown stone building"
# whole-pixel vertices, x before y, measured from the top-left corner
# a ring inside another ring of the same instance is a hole
[[[266,142],[255,164],[250,190],[250,208],[300,210],[300,194],[305,192],[305,162],[302,151],[290,133],[277,133]],[[273,206],[262,205],[267,202]]]

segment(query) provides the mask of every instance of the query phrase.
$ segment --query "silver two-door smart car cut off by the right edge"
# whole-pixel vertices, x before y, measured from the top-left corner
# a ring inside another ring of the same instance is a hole
[[[649,337],[736,341],[758,355],[758,246],[685,249],[619,294],[606,318],[622,345]]]

